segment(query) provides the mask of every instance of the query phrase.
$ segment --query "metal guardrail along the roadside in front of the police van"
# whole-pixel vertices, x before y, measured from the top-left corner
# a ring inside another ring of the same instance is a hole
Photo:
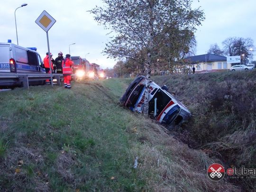
[[[57,85],[61,85],[63,74],[52,74],[53,79],[57,80]],[[23,83],[23,87],[29,89],[29,82],[44,81],[51,79],[51,74],[31,74],[31,73],[0,73],[0,84],[18,84]],[[75,78],[74,78],[75,79]]]

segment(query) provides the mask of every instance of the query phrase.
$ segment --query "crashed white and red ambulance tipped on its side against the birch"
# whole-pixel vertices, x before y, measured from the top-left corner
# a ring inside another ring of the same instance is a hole
[[[145,76],[137,76],[129,84],[127,90],[121,97],[121,104],[132,111],[142,113],[145,101],[145,83]],[[165,85],[160,87],[153,81],[150,81],[148,115],[161,124],[179,125],[191,117],[191,113],[179,100],[167,92],[167,90],[168,88]]]

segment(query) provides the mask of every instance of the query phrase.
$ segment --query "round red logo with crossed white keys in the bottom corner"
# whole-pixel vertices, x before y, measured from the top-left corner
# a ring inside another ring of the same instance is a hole
[[[220,181],[225,175],[225,169],[222,165],[214,163],[208,167],[207,175],[212,181]]]

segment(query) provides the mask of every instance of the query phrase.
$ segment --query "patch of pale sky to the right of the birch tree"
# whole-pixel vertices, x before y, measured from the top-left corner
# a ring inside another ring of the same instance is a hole
[[[197,55],[205,54],[210,45],[229,37],[251,38],[256,45],[256,0],[194,0],[193,8],[201,7],[205,20],[195,33]],[[254,60],[256,59],[254,51]]]

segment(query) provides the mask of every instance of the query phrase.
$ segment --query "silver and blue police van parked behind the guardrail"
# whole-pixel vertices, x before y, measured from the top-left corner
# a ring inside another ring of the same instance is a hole
[[[25,48],[11,41],[0,42],[0,72],[46,73],[37,48]]]

